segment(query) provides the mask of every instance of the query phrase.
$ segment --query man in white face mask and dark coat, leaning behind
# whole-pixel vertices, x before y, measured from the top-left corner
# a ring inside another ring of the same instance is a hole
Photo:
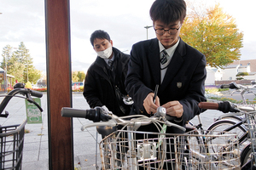
[[[113,41],[106,31],[94,31],[90,42],[97,58],[86,73],[84,98],[90,108],[106,105],[117,116],[128,115],[130,105],[125,105],[123,100],[127,97],[125,77],[130,55],[113,48]]]

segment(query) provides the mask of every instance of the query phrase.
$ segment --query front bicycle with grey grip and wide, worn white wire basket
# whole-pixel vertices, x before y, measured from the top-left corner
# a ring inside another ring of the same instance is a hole
[[[94,113],[90,113],[90,111]],[[204,135],[196,131],[182,134],[137,131],[138,127],[151,122],[159,127],[159,132],[161,132],[160,123],[179,127],[166,120],[166,113],[161,107],[152,117],[141,115],[118,117],[114,116],[111,112],[105,111],[108,116],[111,116],[111,119],[105,119],[106,122],[96,122],[101,120],[99,119],[99,117],[101,117],[101,111],[102,110],[99,108],[89,111],[62,108],[61,116],[85,117],[94,121],[92,124],[83,126],[82,130],[88,127],[108,126],[108,133],[104,133],[104,135],[107,136],[102,139],[100,143],[102,169],[139,169],[139,167],[148,169],[156,167],[158,169],[218,169],[220,167],[227,167],[227,169],[233,169],[234,167],[240,166],[239,156],[233,156],[232,159],[218,158],[217,160],[216,157],[218,156],[216,156],[216,153],[207,152],[208,150],[205,149],[206,145],[201,141]],[[95,115],[95,117],[93,117],[93,115]],[[113,127],[117,125],[124,127],[116,131]],[[185,131],[184,128],[183,131]],[[137,139],[137,134],[143,134],[143,138]],[[208,139],[213,137],[215,139],[223,138],[223,140],[219,140],[223,142],[230,139],[235,140],[236,134],[226,133],[207,136]],[[192,139],[195,139],[195,141]],[[225,151],[226,155],[230,155],[230,153],[236,150],[237,146],[236,143],[219,144],[229,145],[230,150]],[[198,147],[201,148],[201,150],[198,150]],[[200,151],[200,153],[198,153],[198,151]],[[199,155],[200,159],[198,159]],[[234,160],[238,163],[226,165],[226,162]]]

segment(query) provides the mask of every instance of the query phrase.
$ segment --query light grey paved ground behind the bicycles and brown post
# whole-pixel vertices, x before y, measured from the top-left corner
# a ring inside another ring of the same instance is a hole
[[[3,98],[0,98],[2,100]],[[26,129],[30,133],[25,135],[25,144],[23,152],[23,168],[24,170],[47,170],[48,165],[48,124],[47,124],[47,95],[44,94],[41,99],[41,105],[44,109],[43,124],[26,124]],[[73,94],[73,108],[89,109],[89,105],[85,102],[82,94]],[[26,105],[24,99],[11,99],[6,107],[9,111],[7,119],[0,118],[0,124],[13,125],[21,123],[26,119]],[[213,119],[221,115],[219,111],[206,111],[201,114],[203,127],[207,127],[213,122]],[[197,117],[192,120],[197,122]],[[81,126],[88,124],[90,121],[81,118],[73,119],[73,144],[74,144],[74,164],[79,170],[96,169],[96,128],[90,127],[84,132],[80,130]],[[98,138],[100,141],[101,136]],[[99,156],[99,154],[97,154]],[[98,157],[100,163],[100,158]]]

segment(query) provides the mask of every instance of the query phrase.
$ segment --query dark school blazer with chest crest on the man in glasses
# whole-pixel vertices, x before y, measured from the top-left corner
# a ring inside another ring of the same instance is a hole
[[[180,39],[180,42],[167,67],[166,76],[160,84],[160,48],[158,39],[137,42],[132,46],[125,89],[134,100],[135,114],[148,115],[143,108],[143,99],[154,93],[159,84],[160,105],[178,100],[183,105],[183,117],[175,120],[184,126],[195,115],[201,113],[198,103],[205,98],[207,77],[206,57]]]

